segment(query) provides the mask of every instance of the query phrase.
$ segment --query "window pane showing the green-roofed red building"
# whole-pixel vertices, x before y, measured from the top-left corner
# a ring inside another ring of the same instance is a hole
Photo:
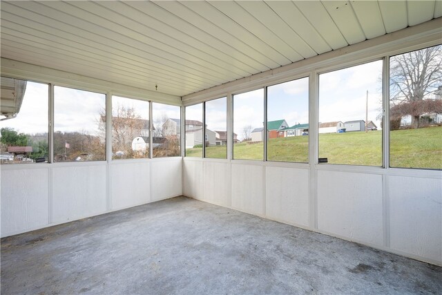
[[[309,162],[309,78],[267,87],[267,160]]]

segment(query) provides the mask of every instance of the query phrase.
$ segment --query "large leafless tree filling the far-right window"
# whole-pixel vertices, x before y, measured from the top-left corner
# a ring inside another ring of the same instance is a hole
[[[434,92],[442,86],[442,46],[396,55],[390,59],[390,90],[392,120],[412,116],[413,128],[419,128],[419,118],[432,111],[440,113]],[[433,106],[436,108],[431,109]]]

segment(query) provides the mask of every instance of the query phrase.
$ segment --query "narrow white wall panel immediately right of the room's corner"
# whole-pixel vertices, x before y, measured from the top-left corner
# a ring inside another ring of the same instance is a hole
[[[183,194],[184,196],[203,200],[203,162],[183,160]]]

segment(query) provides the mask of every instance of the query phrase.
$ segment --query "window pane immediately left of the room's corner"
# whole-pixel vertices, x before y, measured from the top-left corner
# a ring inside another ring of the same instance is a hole
[[[180,106],[152,104],[153,158],[181,155],[181,112]]]

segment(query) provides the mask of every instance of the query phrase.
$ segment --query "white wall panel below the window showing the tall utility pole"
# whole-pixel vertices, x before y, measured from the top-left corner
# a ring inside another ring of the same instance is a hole
[[[318,171],[318,229],[383,246],[382,175]]]

